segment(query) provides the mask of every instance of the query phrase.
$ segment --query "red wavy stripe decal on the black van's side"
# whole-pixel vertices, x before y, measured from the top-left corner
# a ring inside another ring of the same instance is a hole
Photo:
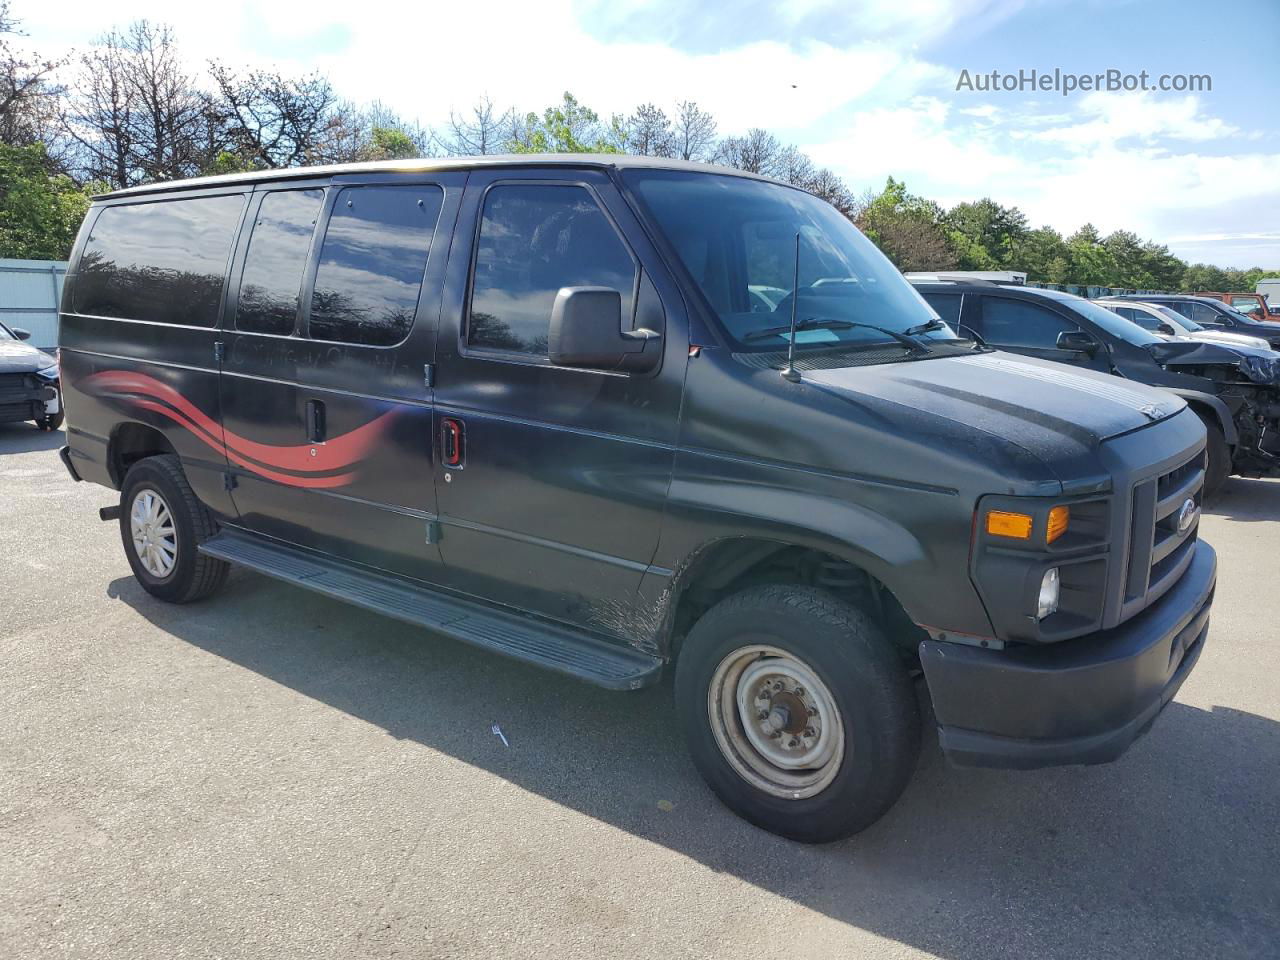
[[[314,476],[314,474],[346,470],[362,460],[396,415],[396,411],[389,410],[364,426],[334,436],[325,443],[273,447],[225,430],[173,387],[146,374],[104,370],[84,378],[81,385],[91,393],[120,397],[136,407],[161,413],[189,430],[197,439],[233,463],[291,486],[329,488],[349,484],[355,479],[352,472],[332,476]],[[275,467],[275,470],[270,467]],[[280,470],[311,474],[312,476],[293,476],[282,474]]]

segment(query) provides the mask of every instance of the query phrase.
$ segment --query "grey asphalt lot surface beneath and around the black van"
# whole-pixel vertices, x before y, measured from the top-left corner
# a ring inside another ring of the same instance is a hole
[[[1280,956],[1280,481],[1119,763],[956,771],[804,847],[609,694],[236,572],[169,607],[61,434],[0,425],[5,957]],[[490,732],[499,723],[509,746]]]

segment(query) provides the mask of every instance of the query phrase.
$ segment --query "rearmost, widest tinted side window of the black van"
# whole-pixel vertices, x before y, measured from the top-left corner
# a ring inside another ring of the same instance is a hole
[[[212,326],[244,198],[109,206],[84,244],[76,312]]]

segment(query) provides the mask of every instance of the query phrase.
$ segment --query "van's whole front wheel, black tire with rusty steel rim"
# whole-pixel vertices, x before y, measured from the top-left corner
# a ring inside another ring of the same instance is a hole
[[[915,769],[905,667],[865,614],[814,588],[754,588],[708,611],[680,653],[676,701],[716,795],[791,840],[865,829]]]

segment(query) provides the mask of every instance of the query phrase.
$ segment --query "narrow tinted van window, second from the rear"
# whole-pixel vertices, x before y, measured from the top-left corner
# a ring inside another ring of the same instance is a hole
[[[293,333],[302,271],[321,202],[324,192],[319,189],[276,191],[262,198],[244,260],[237,329]]]

